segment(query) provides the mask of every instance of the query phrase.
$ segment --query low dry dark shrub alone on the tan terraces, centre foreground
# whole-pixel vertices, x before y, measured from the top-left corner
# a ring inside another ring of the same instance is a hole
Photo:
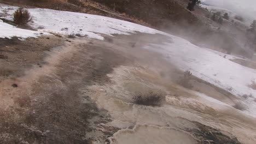
[[[150,91],[149,93],[142,94],[137,93],[133,96],[133,103],[138,105],[146,105],[146,106],[161,106],[163,101],[165,100],[164,95],[160,93],[154,93]]]

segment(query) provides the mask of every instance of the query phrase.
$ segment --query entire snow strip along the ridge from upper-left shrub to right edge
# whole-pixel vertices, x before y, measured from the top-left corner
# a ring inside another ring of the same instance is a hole
[[[11,14],[15,11],[15,7],[1,7],[7,11],[7,19],[11,19]],[[256,80],[256,70],[243,67],[237,63],[229,61],[229,59],[220,56],[219,53],[203,49],[195,46],[189,41],[173,35],[157,31],[152,28],[137,25],[135,23],[112,19],[104,16],[89,15],[82,13],[73,13],[68,11],[57,11],[50,9],[29,9],[33,22],[30,25],[34,28],[43,27],[40,31],[55,32],[61,34],[81,34],[88,35],[89,38],[103,40],[101,34],[130,34],[138,32],[144,33],[161,33],[166,35],[173,43],[165,43],[163,45],[149,44],[146,49],[168,54],[171,63],[177,65],[181,70],[191,70],[193,75],[212,83],[213,85],[222,87],[226,91],[239,97],[243,94],[252,94],[256,97],[256,91],[249,88],[252,80]],[[2,32],[0,35],[15,35],[15,27],[10,28],[9,32]],[[27,30],[24,30],[24,32]],[[32,32],[31,32],[32,33]],[[248,103],[248,112],[256,116],[255,103]]]

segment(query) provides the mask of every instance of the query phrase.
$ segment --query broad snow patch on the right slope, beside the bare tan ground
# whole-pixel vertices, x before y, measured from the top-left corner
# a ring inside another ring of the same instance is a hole
[[[202,80],[221,87],[240,97],[243,94],[252,94],[256,91],[249,87],[252,80],[256,80],[256,70],[234,63],[219,56],[219,53],[195,46],[182,38],[169,35],[173,43],[162,45],[149,44],[144,48],[162,53],[166,59],[181,70],[190,70],[193,75]],[[253,99],[251,100],[253,101]],[[248,113],[256,115],[255,103],[248,101]]]

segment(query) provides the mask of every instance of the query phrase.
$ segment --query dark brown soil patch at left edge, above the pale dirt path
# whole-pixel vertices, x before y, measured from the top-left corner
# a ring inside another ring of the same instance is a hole
[[[0,82],[3,77],[11,78],[23,75],[23,70],[43,61],[46,52],[53,47],[62,45],[63,40],[27,38],[26,41],[14,37],[0,39]]]

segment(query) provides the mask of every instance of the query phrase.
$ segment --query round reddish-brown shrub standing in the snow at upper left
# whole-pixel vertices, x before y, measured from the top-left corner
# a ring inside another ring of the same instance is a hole
[[[25,25],[26,23],[30,22],[32,19],[28,10],[24,8],[19,8],[13,14],[13,20],[18,25]]]

